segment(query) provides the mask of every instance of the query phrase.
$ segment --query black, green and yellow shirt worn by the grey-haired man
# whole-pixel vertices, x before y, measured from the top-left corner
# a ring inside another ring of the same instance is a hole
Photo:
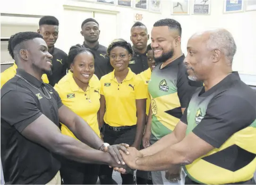
[[[193,132],[215,147],[187,168],[188,177],[206,184],[248,183],[255,171],[256,93],[237,72],[207,91],[196,89],[180,121],[188,124],[187,135]],[[206,182],[213,171],[214,178]]]

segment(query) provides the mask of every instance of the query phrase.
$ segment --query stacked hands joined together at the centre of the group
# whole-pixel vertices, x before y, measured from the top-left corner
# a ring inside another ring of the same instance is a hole
[[[137,169],[136,161],[143,157],[135,147],[129,147],[127,144],[111,145],[104,148],[104,152],[108,152],[112,161],[110,167],[114,167],[115,171],[122,174],[127,173],[131,169]]]

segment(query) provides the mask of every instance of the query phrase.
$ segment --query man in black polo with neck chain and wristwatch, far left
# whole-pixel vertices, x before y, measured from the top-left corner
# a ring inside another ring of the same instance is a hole
[[[20,32],[10,38],[8,48],[18,69],[1,88],[1,161],[6,184],[60,184],[60,161],[54,153],[78,162],[119,166],[123,161],[118,149],[126,148],[104,144],[41,80],[43,73],[51,74],[52,66],[43,36]],[[83,143],[61,134],[60,122]]]

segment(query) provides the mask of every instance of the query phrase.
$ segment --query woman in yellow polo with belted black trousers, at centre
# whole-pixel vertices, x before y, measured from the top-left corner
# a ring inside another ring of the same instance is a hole
[[[133,73],[128,64],[132,57],[131,45],[122,39],[114,40],[107,49],[113,72],[103,76],[101,82],[100,121],[104,125],[104,142],[126,143],[139,149],[145,129],[147,94],[144,81]],[[114,184],[112,169],[102,165],[101,184]],[[133,174],[121,174],[122,184],[134,184]]]

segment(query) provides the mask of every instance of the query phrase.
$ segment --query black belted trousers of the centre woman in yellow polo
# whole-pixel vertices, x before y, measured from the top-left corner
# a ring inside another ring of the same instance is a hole
[[[121,143],[126,143],[132,145],[135,140],[136,126],[132,126],[125,130],[114,131],[107,124],[104,126],[103,140],[105,143],[110,145],[117,145]],[[102,185],[113,185],[117,184],[112,179],[113,168],[109,168],[108,165],[101,165],[99,178]],[[134,174],[121,174],[122,185],[133,185],[134,184]]]

